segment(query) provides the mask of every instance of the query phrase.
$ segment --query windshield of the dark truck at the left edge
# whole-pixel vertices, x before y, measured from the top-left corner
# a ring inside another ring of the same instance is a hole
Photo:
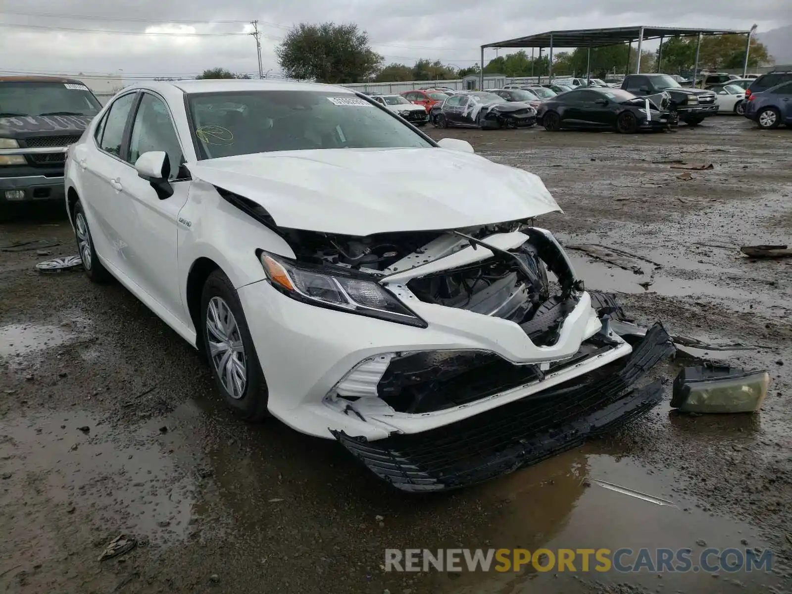
[[[0,82],[2,116],[95,116],[101,105],[84,85],[64,82]]]

